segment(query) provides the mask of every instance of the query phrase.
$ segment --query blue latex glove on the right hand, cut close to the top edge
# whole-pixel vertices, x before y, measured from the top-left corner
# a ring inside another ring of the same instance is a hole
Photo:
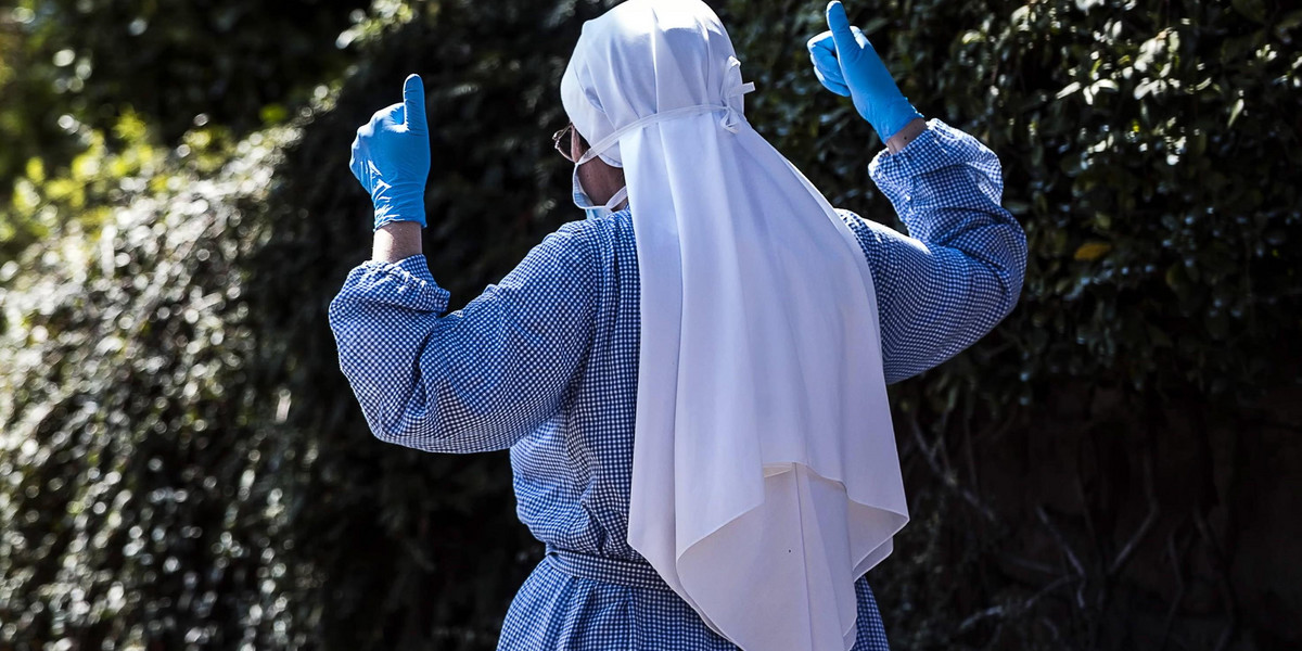
[[[814,74],[827,90],[854,100],[854,108],[872,125],[881,142],[922,117],[900,92],[868,38],[850,26],[840,1],[827,5],[827,26],[828,31],[809,42]]]

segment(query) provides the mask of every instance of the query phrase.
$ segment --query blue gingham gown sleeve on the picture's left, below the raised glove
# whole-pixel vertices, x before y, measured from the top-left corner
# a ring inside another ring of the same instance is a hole
[[[505,449],[560,408],[591,345],[596,260],[583,221],[444,315],[423,255],[354,268],[331,301],[340,368],[371,432],[427,452]]]

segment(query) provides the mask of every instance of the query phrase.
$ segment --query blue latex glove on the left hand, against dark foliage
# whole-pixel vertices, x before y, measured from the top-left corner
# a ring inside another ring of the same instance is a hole
[[[424,227],[424,182],[430,177],[430,128],[424,118],[424,83],[410,74],[402,103],[371,116],[353,138],[348,168],[371,193],[375,229],[393,221]]]

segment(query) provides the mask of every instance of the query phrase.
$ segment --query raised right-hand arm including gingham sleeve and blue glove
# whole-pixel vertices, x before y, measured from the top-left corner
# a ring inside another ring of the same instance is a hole
[[[887,381],[949,359],[1017,303],[1026,234],[1000,206],[999,159],[975,138],[922,115],[872,43],[833,0],[828,31],[807,43],[819,82],[853,100],[887,143],[868,167],[913,237],[841,211],[872,270]]]

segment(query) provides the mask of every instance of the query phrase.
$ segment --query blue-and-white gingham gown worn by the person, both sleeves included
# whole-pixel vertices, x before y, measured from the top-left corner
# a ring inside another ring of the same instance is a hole
[[[872,271],[894,383],[1008,315],[1026,237],[1000,207],[997,158],[939,120],[868,172],[910,236],[838,212]],[[519,519],[549,553],[512,602],[499,648],[736,648],[647,578],[626,542],[639,336],[631,214],[566,223],[461,310],[444,314],[448,298],[422,255],[366,262],[329,322],[376,437],[428,452],[510,449]],[[855,590],[854,648],[887,648],[866,575]]]

